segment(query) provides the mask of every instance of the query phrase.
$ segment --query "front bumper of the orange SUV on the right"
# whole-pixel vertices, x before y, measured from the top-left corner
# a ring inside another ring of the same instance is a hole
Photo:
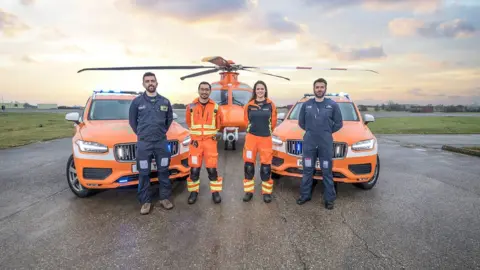
[[[301,156],[290,155],[274,148],[272,172],[301,179],[303,177],[303,167],[298,164],[301,160]],[[348,147],[345,157],[333,159],[332,163],[333,181],[352,184],[368,182],[374,176],[377,166],[377,145],[373,150],[363,152],[353,152]],[[313,178],[323,179],[320,168],[316,168]]]

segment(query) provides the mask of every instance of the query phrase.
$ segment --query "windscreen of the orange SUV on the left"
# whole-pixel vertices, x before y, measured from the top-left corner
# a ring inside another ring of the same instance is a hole
[[[101,100],[92,102],[89,120],[128,120],[131,100]]]

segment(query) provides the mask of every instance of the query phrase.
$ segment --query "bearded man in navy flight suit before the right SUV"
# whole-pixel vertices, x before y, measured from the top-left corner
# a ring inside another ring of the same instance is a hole
[[[333,136],[343,127],[342,113],[338,104],[325,98],[327,81],[323,78],[313,82],[315,98],[305,101],[300,108],[298,125],[305,130],[303,135],[303,178],[297,204],[311,200],[313,174],[317,158],[323,176],[325,208],[333,209],[336,199],[332,174]]]

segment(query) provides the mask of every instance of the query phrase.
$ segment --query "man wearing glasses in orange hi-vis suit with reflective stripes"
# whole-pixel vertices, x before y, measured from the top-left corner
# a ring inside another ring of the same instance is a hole
[[[217,162],[217,132],[221,127],[221,114],[218,113],[218,104],[210,99],[212,87],[208,82],[198,85],[199,97],[196,98],[186,109],[186,122],[190,129],[190,176],[187,179],[187,187],[190,192],[188,203],[193,204],[197,200],[200,189],[200,169],[205,159],[208,178],[210,179],[210,191],[215,203],[220,203],[220,191],[222,191],[223,178],[218,176]]]

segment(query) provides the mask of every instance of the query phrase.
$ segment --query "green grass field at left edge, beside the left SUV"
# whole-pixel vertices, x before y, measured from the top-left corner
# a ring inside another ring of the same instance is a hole
[[[0,113],[0,149],[73,136],[60,113]]]

